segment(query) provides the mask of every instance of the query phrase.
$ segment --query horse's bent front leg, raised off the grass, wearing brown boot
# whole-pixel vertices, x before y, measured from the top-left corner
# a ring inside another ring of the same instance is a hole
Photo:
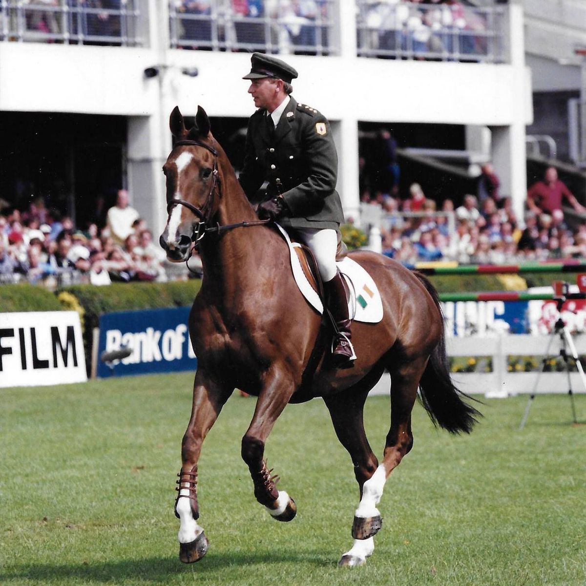
[[[242,459],[248,465],[254,483],[254,496],[278,521],[291,521],[297,513],[295,501],[284,490],[277,490],[278,476],[271,476],[263,459],[265,442],[275,421],[294,391],[291,376],[284,369],[273,367],[258,396],[253,420],[242,438]]]

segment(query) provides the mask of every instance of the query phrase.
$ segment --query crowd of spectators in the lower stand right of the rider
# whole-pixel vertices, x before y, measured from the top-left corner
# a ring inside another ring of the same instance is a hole
[[[490,179],[489,189],[485,176]],[[516,216],[510,197],[498,195],[499,183],[492,166],[486,165],[479,178],[479,193],[464,195],[459,206],[448,198],[438,210],[437,203],[425,197],[417,183],[410,186],[403,199],[397,192],[391,195],[379,191],[374,196],[365,192],[362,202],[381,206],[383,254],[405,264],[586,258],[586,208],[557,178],[555,168],[548,168],[544,180],[529,188],[522,218]],[[578,217],[584,214],[574,229],[565,221],[564,198]],[[450,216],[454,220],[452,230]]]

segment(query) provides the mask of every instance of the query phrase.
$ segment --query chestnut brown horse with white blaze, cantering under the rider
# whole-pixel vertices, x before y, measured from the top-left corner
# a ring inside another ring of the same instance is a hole
[[[323,398],[352,459],[360,494],[353,543],[339,565],[362,565],[381,528],[377,505],[385,482],[413,446],[411,410],[418,389],[431,420],[451,433],[470,432],[479,415],[452,383],[438,294],[423,275],[390,258],[351,252],[380,291],[383,318],[355,322],[357,359],[352,368],[333,368],[328,362],[331,335],[299,292],[288,246],[274,227],[258,220],[210,132],[205,110],[198,107],[188,130],[175,107],[169,127],[175,141],[163,165],[168,219],[159,241],[175,262],[188,260],[197,246],[203,264],[202,285],[189,314],[197,370],[176,481],[179,558],[192,563],[207,552],[198,523],[197,464],[207,432],[234,389],[240,389],[257,397],[241,457],[255,498],[282,522],[294,519],[297,506],[285,490],[277,490],[265,444],[288,403]],[[391,417],[379,462],[364,432],[363,407],[384,370],[391,377]]]

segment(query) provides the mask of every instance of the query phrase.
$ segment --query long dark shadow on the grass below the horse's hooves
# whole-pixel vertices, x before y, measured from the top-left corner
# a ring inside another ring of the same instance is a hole
[[[202,575],[213,573],[216,570],[225,568],[239,568],[243,566],[254,566],[257,564],[275,563],[302,563],[325,567],[331,565],[327,561],[326,554],[307,555],[275,553],[275,554],[254,554],[254,553],[231,553],[229,556],[210,556],[196,564],[182,564],[178,558],[148,558],[143,560],[120,560],[104,563],[80,564],[35,564],[35,565],[12,565],[5,567],[2,573],[4,580],[32,580],[32,581],[55,581],[55,580],[84,580],[94,582],[113,582],[119,584],[125,580],[139,580],[148,582],[166,582],[172,575],[185,573],[190,568],[195,568],[197,573]]]

